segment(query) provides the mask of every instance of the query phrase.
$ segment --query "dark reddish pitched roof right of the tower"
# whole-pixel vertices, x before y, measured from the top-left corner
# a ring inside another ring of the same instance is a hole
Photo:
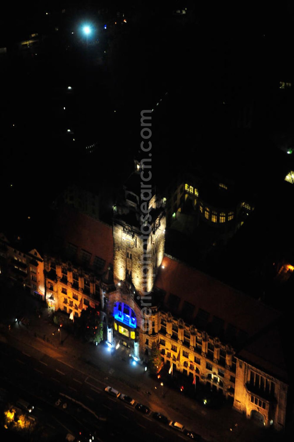
[[[244,341],[279,317],[260,301],[167,255],[154,285],[165,292],[162,308],[197,328],[215,329],[219,338],[220,329],[237,329],[237,337],[243,338],[237,340]]]

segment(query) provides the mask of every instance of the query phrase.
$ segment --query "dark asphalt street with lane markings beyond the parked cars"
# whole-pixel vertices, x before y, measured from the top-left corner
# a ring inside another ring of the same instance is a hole
[[[10,401],[22,398],[34,404],[33,415],[49,431],[56,429],[57,434],[95,431],[101,441],[138,436],[143,441],[150,441],[151,435],[156,441],[188,440],[168,426],[157,423],[152,414],[142,415],[134,407],[108,395],[104,391],[107,382],[85,376],[47,355],[40,354],[35,358],[29,354],[29,349],[19,351],[0,343],[0,354],[1,384]],[[55,405],[58,398],[67,403],[66,409]]]

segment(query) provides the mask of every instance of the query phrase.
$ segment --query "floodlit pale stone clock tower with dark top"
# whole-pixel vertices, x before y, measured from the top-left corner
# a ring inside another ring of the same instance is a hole
[[[115,206],[114,278],[115,282],[132,282],[138,291],[151,291],[164,256],[165,210],[162,199],[156,198],[155,188],[150,188],[151,198],[147,205],[151,227],[146,229],[151,231],[143,234],[141,225],[145,214],[141,212],[141,204],[145,201],[140,173],[136,170],[130,175],[123,186],[123,197]]]

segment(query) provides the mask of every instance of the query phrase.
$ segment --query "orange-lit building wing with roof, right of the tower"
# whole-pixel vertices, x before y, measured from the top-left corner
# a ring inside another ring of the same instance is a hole
[[[267,350],[269,343],[279,347],[280,341],[267,333],[259,340],[263,330],[279,321],[278,312],[167,255],[152,303],[152,326],[141,331],[141,359],[147,362],[152,343],[159,341],[171,375],[179,371],[191,383],[195,379],[196,388],[201,382],[218,391],[265,426],[285,427],[286,372],[275,370],[276,356]],[[252,341],[254,346],[248,347]]]

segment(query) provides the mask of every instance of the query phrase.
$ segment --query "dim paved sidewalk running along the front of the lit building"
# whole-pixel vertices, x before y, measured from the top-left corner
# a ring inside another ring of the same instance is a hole
[[[6,335],[8,339],[13,337],[19,342],[27,343],[34,349],[76,368],[86,376],[102,381],[108,377],[104,380],[106,385],[113,385],[152,410],[161,412],[172,420],[180,421],[187,428],[201,434],[207,441],[248,441],[252,430],[255,433],[256,427],[252,422],[234,410],[228,408],[207,410],[194,400],[166,388],[162,397],[160,384],[149,377],[145,372],[145,366],[131,365],[122,349],[109,352],[104,343],[98,346],[82,343],[73,335],[68,335],[65,330],[61,331],[64,340],[61,345],[60,334],[58,331],[55,333],[56,331],[57,326],[51,324],[48,319],[36,317],[31,318],[31,323],[27,327],[15,323]],[[15,346],[16,342],[12,342],[14,339],[9,341]],[[145,394],[146,390],[152,392],[151,396]],[[235,428],[235,423],[238,424],[237,430],[229,432],[229,428]]]

